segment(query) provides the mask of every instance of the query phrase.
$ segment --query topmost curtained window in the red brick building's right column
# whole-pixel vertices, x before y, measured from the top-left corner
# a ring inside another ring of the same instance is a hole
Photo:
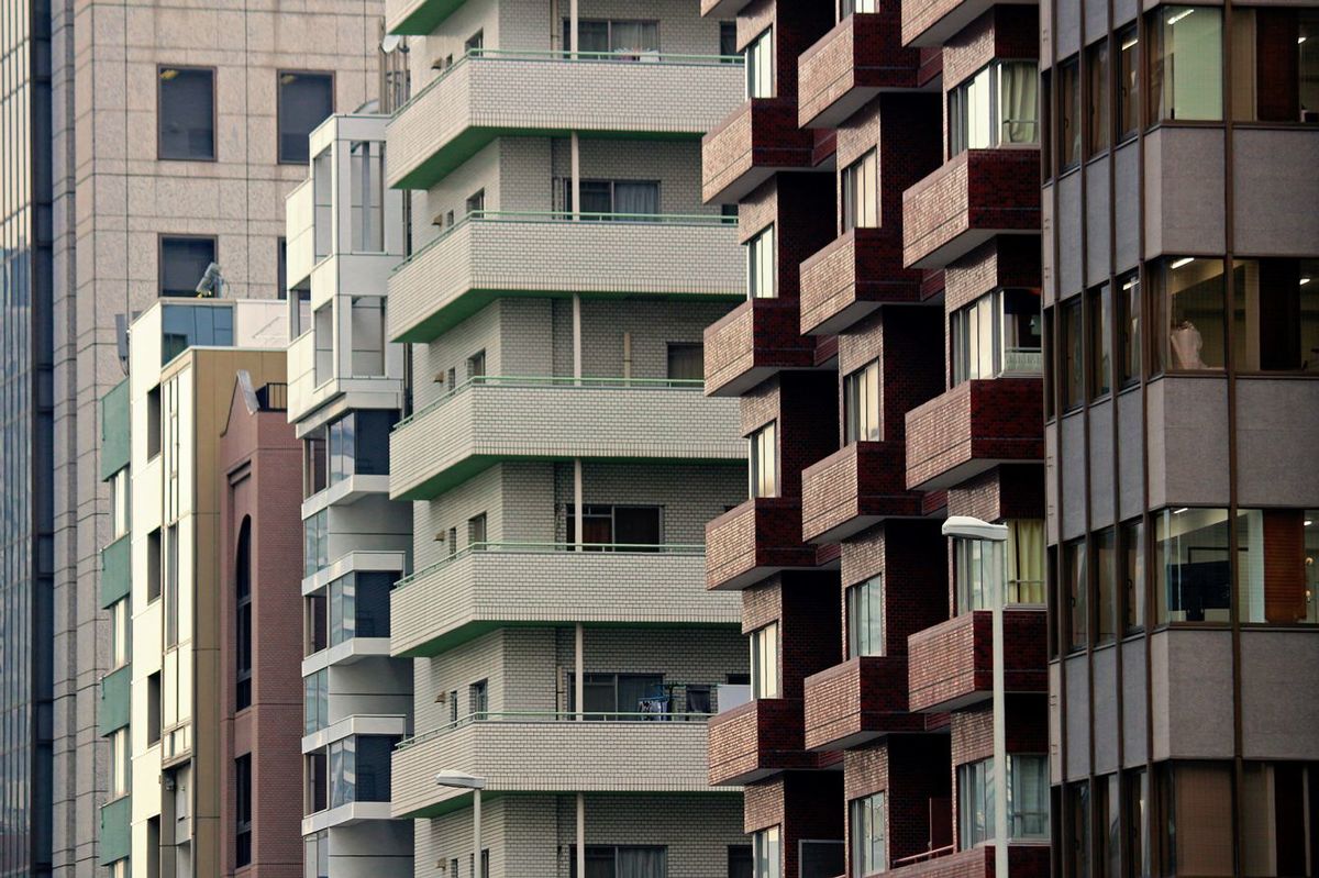
[[[948,157],[1039,142],[1038,67],[996,61],[948,92]]]

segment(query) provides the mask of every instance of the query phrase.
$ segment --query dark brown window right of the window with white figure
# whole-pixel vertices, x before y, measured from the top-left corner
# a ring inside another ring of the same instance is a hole
[[[1236,260],[1232,320],[1239,372],[1319,373],[1319,260]]]

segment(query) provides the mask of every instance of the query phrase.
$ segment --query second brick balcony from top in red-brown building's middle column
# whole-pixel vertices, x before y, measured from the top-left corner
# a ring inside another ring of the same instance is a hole
[[[836,335],[882,305],[925,301],[921,272],[902,268],[896,239],[892,229],[856,228],[802,262],[802,335]]]

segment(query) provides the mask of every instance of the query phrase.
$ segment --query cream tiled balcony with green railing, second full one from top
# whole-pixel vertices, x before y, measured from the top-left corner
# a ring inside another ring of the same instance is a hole
[[[438,337],[503,295],[747,295],[736,218],[470,214],[389,278],[388,334]]]

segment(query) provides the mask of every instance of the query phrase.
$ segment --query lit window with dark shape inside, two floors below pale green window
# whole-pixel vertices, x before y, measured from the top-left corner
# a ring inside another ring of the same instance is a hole
[[[1231,563],[1225,509],[1165,509],[1154,517],[1157,625],[1228,622]]]

